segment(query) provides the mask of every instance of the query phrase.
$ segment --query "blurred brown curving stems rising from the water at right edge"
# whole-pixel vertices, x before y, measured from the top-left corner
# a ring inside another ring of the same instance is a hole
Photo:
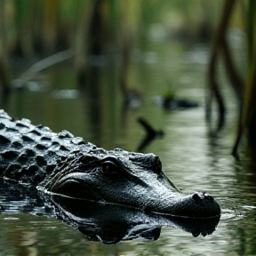
[[[236,68],[236,62],[228,44],[228,26],[230,21],[236,15],[237,9],[247,20],[244,24],[244,32],[247,39],[247,70],[245,74],[241,74],[241,70]],[[236,1],[225,0],[220,15],[219,25],[216,29],[212,44],[212,53],[208,69],[208,81],[210,88],[210,97],[206,102],[206,118],[211,121],[212,98],[217,100],[219,106],[219,125],[220,130],[225,121],[226,104],[224,96],[220,91],[220,83],[218,81],[217,64],[222,57],[224,66],[227,70],[228,79],[231,87],[234,89],[237,98],[237,105],[240,111],[237,135],[235,145],[232,150],[233,156],[238,159],[238,146],[244,133],[247,133],[249,145],[252,152],[256,152],[256,49],[255,49],[255,28],[256,28],[256,2],[253,0]]]

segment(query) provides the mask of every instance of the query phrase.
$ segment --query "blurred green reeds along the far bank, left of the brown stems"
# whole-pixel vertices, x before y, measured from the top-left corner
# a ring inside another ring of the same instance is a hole
[[[213,12],[212,17],[206,13],[218,5],[204,0],[0,0],[1,84],[5,88],[10,84],[10,57],[36,61],[35,56],[40,60],[72,49],[81,84],[90,74],[92,54],[120,53],[120,83],[125,92],[132,48],[146,47],[152,24],[161,25],[150,30],[156,40],[175,33],[209,37],[214,17]]]

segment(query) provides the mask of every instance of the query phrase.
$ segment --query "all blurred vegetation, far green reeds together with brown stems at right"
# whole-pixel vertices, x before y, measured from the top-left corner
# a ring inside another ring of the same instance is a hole
[[[250,138],[256,140],[255,19],[253,0],[0,0],[0,86],[4,92],[12,87],[13,58],[36,63],[22,75],[21,86],[44,68],[69,58],[78,84],[84,85],[90,84],[92,56],[117,56],[120,89],[126,94],[131,90],[128,74],[134,48],[147,49],[149,40],[170,38],[212,42],[206,114],[209,121],[215,98],[220,109],[219,128],[224,124],[226,106],[217,79],[221,57],[240,109],[236,155],[244,131],[249,130]],[[247,74],[237,71],[228,44],[228,28],[234,23],[247,35]]]

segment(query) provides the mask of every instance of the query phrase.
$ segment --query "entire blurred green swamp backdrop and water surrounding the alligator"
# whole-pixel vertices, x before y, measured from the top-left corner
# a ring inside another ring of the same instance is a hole
[[[222,208],[211,236],[162,228],[155,242],[107,247],[5,212],[0,254],[254,255],[255,10],[253,0],[0,0],[0,108],[102,148],[153,152],[179,188]]]

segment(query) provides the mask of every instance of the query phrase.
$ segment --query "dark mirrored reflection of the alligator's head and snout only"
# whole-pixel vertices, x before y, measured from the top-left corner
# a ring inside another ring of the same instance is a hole
[[[114,204],[95,204],[54,196],[60,219],[71,224],[87,238],[104,244],[143,238],[157,240],[161,227],[181,228],[193,236],[210,235],[220,217],[212,219],[186,219],[146,214]],[[86,207],[84,207],[85,205]]]

